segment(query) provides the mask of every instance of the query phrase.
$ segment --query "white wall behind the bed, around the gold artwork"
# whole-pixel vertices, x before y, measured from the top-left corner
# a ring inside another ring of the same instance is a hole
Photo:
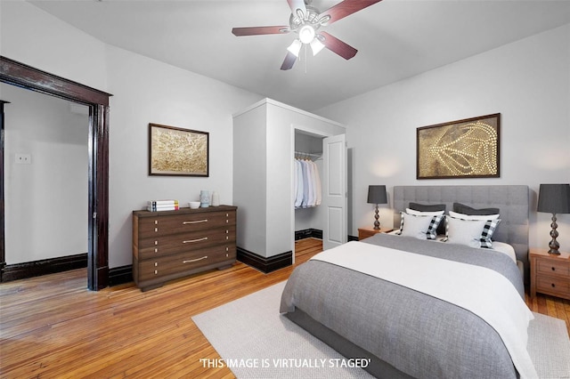
[[[526,184],[530,246],[548,246],[550,214],[534,212],[541,183],[570,182],[570,25],[387,85],[317,113],[347,125],[353,192],[349,233],[373,220],[370,184]],[[416,180],[416,128],[501,113],[501,178]],[[392,225],[389,206],[382,225]],[[570,214],[558,215],[570,251]]]

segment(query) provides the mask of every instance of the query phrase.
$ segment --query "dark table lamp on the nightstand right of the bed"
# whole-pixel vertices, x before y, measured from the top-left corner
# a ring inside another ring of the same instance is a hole
[[[570,214],[570,184],[541,184],[538,195],[537,212],[546,212],[552,214],[552,223],[550,227],[550,254],[559,254],[558,248],[560,244],[556,238],[558,237],[558,224],[556,223],[556,214]]]

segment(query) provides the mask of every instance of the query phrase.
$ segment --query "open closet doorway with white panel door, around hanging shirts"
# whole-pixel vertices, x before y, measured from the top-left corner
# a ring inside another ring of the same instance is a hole
[[[295,156],[311,160],[316,165],[322,190],[319,206],[292,207],[292,230],[296,234],[299,230],[322,230],[324,250],[342,245],[347,240],[348,220],[346,136],[326,135],[299,125],[293,129]],[[294,197],[296,182],[293,181]]]

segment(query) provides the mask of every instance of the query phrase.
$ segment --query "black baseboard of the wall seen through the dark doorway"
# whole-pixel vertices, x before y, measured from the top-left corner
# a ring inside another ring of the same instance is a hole
[[[56,272],[84,269],[85,267],[87,267],[87,253],[34,262],[7,264],[1,271],[0,281],[4,283],[12,280],[40,277]]]

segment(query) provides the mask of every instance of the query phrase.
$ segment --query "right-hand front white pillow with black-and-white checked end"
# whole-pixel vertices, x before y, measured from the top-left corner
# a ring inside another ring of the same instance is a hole
[[[446,242],[470,247],[492,247],[494,230],[501,222],[496,220],[461,220],[445,217]]]

